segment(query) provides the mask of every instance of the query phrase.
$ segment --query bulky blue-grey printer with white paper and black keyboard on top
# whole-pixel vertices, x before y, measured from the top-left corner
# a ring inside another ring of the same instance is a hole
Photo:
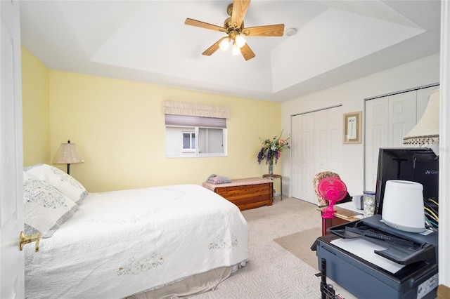
[[[319,269],[357,298],[436,298],[437,232],[396,230],[381,215],[328,232],[311,247]]]

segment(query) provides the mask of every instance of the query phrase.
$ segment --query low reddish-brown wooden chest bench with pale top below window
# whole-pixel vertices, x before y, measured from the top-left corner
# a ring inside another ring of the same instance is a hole
[[[203,182],[203,187],[214,191],[233,204],[240,211],[259,206],[271,206],[274,182],[268,178],[240,178],[226,184]]]

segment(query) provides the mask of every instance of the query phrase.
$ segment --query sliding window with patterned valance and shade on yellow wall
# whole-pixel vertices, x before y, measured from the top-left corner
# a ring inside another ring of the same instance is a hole
[[[190,102],[163,101],[166,157],[226,156],[229,108]]]

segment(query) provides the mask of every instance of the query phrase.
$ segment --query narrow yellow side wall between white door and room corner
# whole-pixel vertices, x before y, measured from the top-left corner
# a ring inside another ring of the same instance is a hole
[[[23,164],[49,164],[49,69],[22,47]]]

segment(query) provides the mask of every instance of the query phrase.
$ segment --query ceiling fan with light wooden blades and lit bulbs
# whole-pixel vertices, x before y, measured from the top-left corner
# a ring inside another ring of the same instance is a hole
[[[255,53],[253,53],[250,46],[248,46],[243,36],[283,36],[284,24],[245,28],[244,17],[249,5],[250,0],[234,0],[232,4],[229,4],[228,8],[226,8],[226,13],[228,13],[230,17],[226,18],[224,27],[190,18],[186,19],[184,22],[186,25],[212,29],[227,34],[227,36],[216,41],[210,48],[207,48],[206,51],[202,53],[203,55],[210,56],[219,48],[226,51],[231,43],[233,44],[233,55],[238,55],[240,52],[245,60],[250,60],[255,57]]]

